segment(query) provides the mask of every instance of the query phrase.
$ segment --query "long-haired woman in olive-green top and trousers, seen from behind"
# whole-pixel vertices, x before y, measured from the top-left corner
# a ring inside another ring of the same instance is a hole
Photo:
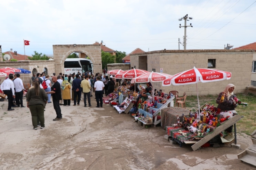
[[[40,121],[41,129],[44,129],[44,108],[48,100],[48,96],[44,89],[40,88],[39,81],[34,80],[32,87],[27,92],[27,107],[32,116],[33,129],[37,129],[37,118]]]

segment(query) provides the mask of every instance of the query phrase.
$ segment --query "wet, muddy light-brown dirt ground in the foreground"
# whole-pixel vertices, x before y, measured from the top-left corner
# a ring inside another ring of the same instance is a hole
[[[23,100],[25,103],[25,99]],[[3,170],[141,170],[141,169],[256,169],[237,154],[251,138],[238,136],[240,150],[231,147],[179,147],[164,139],[161,126],[145,129],[130,115],[109,105],[64,107],[61,121],[52,103],[46,105],[45,129],[33,130],[29,108],[7,111],[0,102],[0,169]],[[71,105],[73,103],[71,102]]]

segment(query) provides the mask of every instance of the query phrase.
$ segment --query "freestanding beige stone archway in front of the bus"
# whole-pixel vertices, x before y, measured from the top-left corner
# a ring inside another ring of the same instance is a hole
[[[68,55],[79,51],[88,55],[93,63],[93,72],[101,73],[101,46],[100,44],[73,44],[73,45],[52,45],[53,59],[55,60],[55,72],[64,72],[64,62]]]

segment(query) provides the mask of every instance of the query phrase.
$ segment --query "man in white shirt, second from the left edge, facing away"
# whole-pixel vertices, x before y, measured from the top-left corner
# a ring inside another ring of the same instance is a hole
[[[24,90],[24,86],[23,86],[23,82],[20,79],[20,74],[16,75],[17,78],[15,79],[15,81],[13,81],[14,87],[15,87],[15,101],[17,104],[17,107],[25,107],[23,106],[23,90]]]

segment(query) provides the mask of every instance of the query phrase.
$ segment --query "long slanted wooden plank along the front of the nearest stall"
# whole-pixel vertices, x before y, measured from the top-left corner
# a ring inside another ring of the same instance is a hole
[[[224,124],[222,124],[221,126],[219,126],[218,128],[216,128],[211,134],[207,135],[206,137],[204,137],[203,139],[201,139],[200,141],[198,141],[196,144],[192,145],[192,149],[193,151],[196,151],[199,147],[201,147],[203,144],[205,144],[206,142],[208,142],[209,140],[211,140],[213,137],[217,136],[220,132],[222,132],[223,130],[227,129],[228,127],[230,127],[231,125],[235,124],[236,122],[238,122],[241,119],[240,115],[235,115],[232,118],[230,118],[227,122],[225,122]]]

